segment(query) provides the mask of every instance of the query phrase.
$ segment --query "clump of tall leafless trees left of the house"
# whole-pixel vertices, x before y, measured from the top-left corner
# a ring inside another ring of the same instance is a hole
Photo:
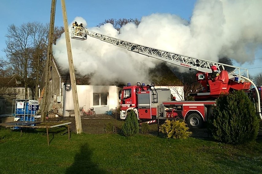
[[[38,84],[45,67],[49,25],[39,22],[28,22],[17,27],[14,24],[8,26],[6,34],[6,53],[10,67],[22,77],[25,82],[25,98],[28,98],[27,87],[33,79],[35,97],[38,96]],[[54,28],[54,43],[64,32],[63,27]],[[34,90],[32,89],[32,90]]]

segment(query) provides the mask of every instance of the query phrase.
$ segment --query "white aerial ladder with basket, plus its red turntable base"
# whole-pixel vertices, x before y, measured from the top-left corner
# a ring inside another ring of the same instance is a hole
[[[256,93],[259,96],[259,91],[255,85],[255,83],[252,82],[252,80],[248,77],[248,69],[240,68],[232,65],[222,64],[210,60],[204,60],[204,59],[196,59],[189,56],[183,56],[177,53],[168,52],[164,50],[160,50],[157,48],[152,48],[148,46],[144,46],[141,44],[136,44],[124,40],[120,40],[114,37],[105,36],[100,33],[96,33],[93,31],[89,31],[88,29],[80,26],[73,26],[71,28],[71,38],[77,39],[77,40],[86,40],[87,36],[94,37],[97,39],[100,39],[101,41],[108,42],[110,44],[113,44],[115,46],[124,48],[131,52],[136,52],[145,56],[153,57],[158,60],[162,60],[174,65],[178,65],[185,68],[190,68],[197,70],[198,73],[196,75],[197,80],[200,81],[201,85],[206,86],[206,82],[208,81],[208,74],[212,73],[211,67],[216,66],[221,72],[224,71],[226,68],[232,69],[230,72],[227,72],[228,74],[228,81],[227,84],[224,84],[223,82],[212,82],[211,85],[217,87],[220,86],[219,90],[210,89],[210,91],[203,90],[200,93],[193,94],[195,99],[205,99],[210,96],[218,97],[223,92],[229,92],[230,90],[248,90],[251,86],[251,84],[255,87]],[[221,73],[220,73],[221,74]],[[205,82],[205,83],[203,83]],[[222,84],[222,86],[220,85]],[[210,85],[210,86],[211,86]],[[260,100],[258,100],[258,106],[260,106]],[[261,109],[258,107],[259,115],[262,120],[261,116]]]

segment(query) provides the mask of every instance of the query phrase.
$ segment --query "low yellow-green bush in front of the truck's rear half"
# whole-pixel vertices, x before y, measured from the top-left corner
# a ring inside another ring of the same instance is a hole
[[[192,135],[186,123],[178,120],[166,120],[165,123],[159,127],[159,131],[164,133],[167,138],[174,139],[186,139]]]

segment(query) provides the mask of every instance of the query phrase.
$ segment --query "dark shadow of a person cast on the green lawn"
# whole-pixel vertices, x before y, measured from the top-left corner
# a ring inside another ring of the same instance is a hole
[[[74,163],[66,169],[66,174],[71,173],[109,173],[98,167],[97,164],[93,163],[91,160],[92,151],[89,149],[88,145],[85,143],[81,145],[80,152],[75,155]]]

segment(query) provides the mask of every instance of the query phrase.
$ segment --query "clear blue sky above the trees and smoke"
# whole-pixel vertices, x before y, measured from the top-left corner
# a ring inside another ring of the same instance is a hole
[[[190,20],[196,0],[65,0],[68,21],[75,17],[83,17],[88,27],[93,27],[109,18],[138,18],[153,13],[176,14],[181,18]],[[5,57],[2,50],[6,47],[7,27],[10,24],[20,26],[25,22],[50,21],[51,0],[1,0],[0,1],[0,56]],[[63,26],[61,1],[57,0],[55,25]],[[256,55],[255,64],[235,64],[242,68],[250,68],[249,73],[255,74],[262,71],[262,51]],[[260,67],[260,68],[257,68]]]

